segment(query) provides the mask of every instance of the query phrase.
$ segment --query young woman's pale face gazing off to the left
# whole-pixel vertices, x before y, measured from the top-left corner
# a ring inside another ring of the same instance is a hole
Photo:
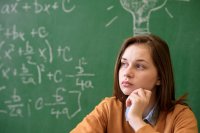
[[[153,91],[155,85],[160,85],[148,46],[136,44],[126,48],[121,58],[119,85],[125,95],[138,88]]]

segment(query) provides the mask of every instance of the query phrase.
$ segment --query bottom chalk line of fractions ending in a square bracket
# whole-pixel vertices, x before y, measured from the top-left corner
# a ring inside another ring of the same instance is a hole
[[[1,94],[2,93],[3,92],[1,92]],[[70,111],[70,108],[68,107],[65,99],[66,94],[70,94],[75,97],[75,102],[77,104],[75,105],[76,110]],[[49,110],[49,115],[55,116],[56,119],[59,119],[60,117],[65,117],[70,120],[74,116],[76,116],[82,109],[80,104],[81,91],[67,91],[66,88],[59,87],[56,88],[55,93],[52,94],[51,97],[53,98],[51,102],[46,101],[44,97],[38,97],[35,101],[33,101],[32,99],[25,100],[17,92],[17,89],[14,88],[12,94],[10,95],[10,98],[3,101],[5,108],[0,109],[0,115],[8,115],[9,117],[31,117],[32,114],[34,114],[33,112],[41,111],[47,108]]]

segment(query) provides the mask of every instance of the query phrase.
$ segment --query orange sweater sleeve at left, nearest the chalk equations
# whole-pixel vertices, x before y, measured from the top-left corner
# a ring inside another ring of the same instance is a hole
[[[107,125],[107,106],[103,100],[70,133],[104,133]]]

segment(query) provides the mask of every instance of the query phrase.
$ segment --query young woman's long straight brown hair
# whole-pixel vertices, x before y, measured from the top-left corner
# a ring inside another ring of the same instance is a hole
[[[172,109],[176,103],[170,51],[165,41],[152,34],[131,37],[123,43],[115,64],[113,95],[123,103],[127,98],[119,87],[119,69],[121,66],[120,60],[126,48],[134,44],[144,44],[150,48],[151,57],[160,78],[160,85],[157,86],[156,89],[158,106],[161,111],[169,111],[169,109]]]

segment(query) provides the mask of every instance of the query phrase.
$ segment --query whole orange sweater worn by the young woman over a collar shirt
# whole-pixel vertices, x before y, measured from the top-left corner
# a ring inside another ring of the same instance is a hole
[[[122,103],[115,97],[105,98],[70,133],[135,133],[125,120]],[[193,112],[184,105],[176,105],[168,113],[160,113],[154,127],[146,124],[137,133],[198,133]]]

